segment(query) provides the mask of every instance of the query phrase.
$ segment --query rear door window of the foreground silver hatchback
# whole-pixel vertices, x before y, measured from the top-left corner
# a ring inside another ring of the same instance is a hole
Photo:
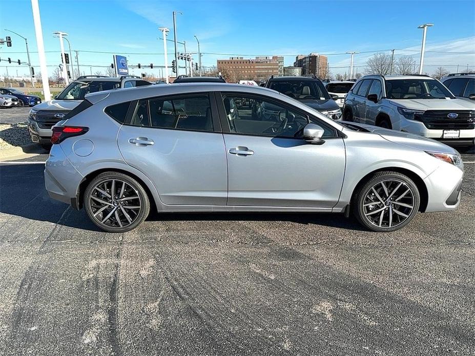
[[[163,129],[213,131],[209,95],[139,100],[130,124]]]

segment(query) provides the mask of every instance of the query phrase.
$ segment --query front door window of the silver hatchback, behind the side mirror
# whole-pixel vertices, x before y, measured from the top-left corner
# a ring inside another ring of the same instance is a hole
[[[305,125],[315,120],[261,96],[223,94],[222,100],[232,133],[301,138]],[[315,123],[325,128],[327,137],[334,135],[331,128]]]

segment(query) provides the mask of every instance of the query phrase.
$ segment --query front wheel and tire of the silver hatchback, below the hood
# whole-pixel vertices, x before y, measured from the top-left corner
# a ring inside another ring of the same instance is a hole
[[[375,204],[370,204],[372,202]],[[421,196],[414,181],[399,172],[383,171],[358,188],[352,200],[352,210],[367,229],[390,232],[409,224],[420,203]]]

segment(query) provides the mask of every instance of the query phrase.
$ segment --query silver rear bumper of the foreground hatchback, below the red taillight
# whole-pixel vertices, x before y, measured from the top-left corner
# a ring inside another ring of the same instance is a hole
[[[45,165],[45,187],[49,196],[60,202],[73,204],[82,178],[63,149],[59,145],[53,145]]]

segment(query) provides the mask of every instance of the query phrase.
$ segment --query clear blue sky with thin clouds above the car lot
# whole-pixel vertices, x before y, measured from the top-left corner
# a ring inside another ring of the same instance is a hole
[[[14,4],[14,5],[13,5]],[[39,0],[47,62],[52,71],[60,63],[59,41],[53,31],[69,33],[72,49],[79,50],[81,71],[104,71],[112,62],[112,53],[127,54],[130,65],[163,65],[163,42],[159,26],[173,30],[172,11],[177,15],[177,37],[187,42],[187,49],[197,51],[200,38],[203,66],[215,66],[217,58],[230,54],[285,55],[285,65],[292,65],[297,54],[328,54],[333,73],[344,73],[349,65],[346,51],[366,52],[355,56],[363,70],[371,51],[396,48],[419,58],[423,23],[433,23],[427,34],[425,71],[435,66],[455,71],[458,64],[475,69],[475,1],[150,1],[150,0]],[[14,8],[14,11],[6,11]],[[26,61],[22,38],[8,34],[11,29],[27,37],[30,51],[36,40],[28,0],[0,0],[0,37],[11,35],[13,47],[0,47],[2,60]],[[172,32],[169,38],[173,38]],[[182,50],[182,47],[179,47]],[[91,53],[99,51],[111,53]],[[169,42],[169,62],[173,43]],[[471,52],[471,53],[470,53]],[[132,54],[147,53],[147,54]],[[219,54],[211,54],[219,53]],[[32,64],[38,65],[36,53]],[[4,74],[7,62],[0,64]],[[87,66],[87,67],[86,67]],[[9,65],[10,75],[18,70]],[[37,69],[39,70],[39,68]],[[144,71],[142,69],[142,71]],[[146,69],[150,72],[150,69]],[[158,70],[153,70],[158,74]],[[136,70],[135,74],[139,71]]]

